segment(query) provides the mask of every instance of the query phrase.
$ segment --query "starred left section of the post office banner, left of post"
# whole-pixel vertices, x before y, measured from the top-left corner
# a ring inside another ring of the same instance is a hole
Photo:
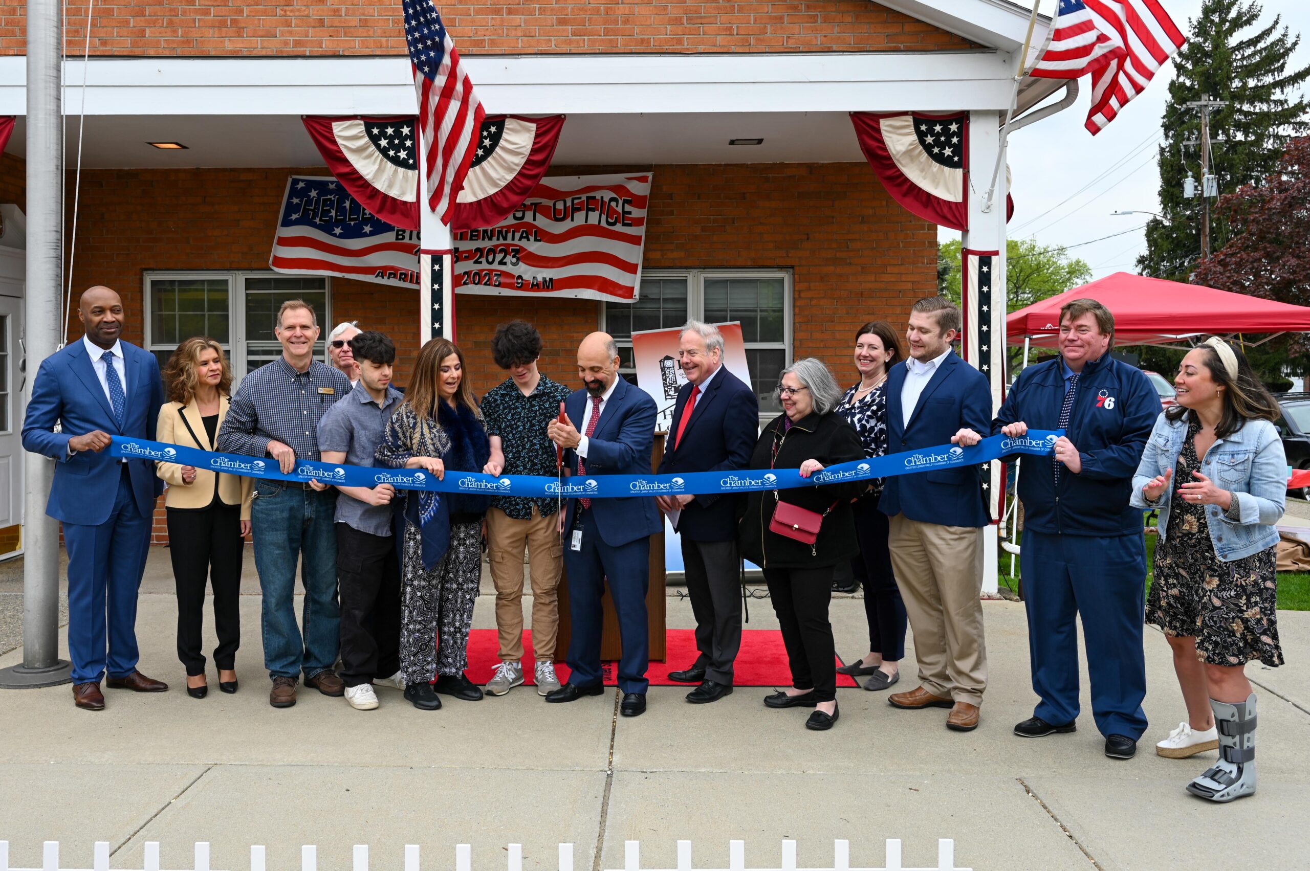
[[[269,267],[417,288],[418,233],[381,220],[331,176],[292,176]]]

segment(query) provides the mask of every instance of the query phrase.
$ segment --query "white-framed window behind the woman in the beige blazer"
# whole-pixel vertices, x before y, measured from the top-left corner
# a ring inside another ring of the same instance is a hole
[[[278,309],[287,300],[301,299],[314,306],[321,335],[314,352],[326,348],[331,329],[329,279],[321,275],[278,272],[147,272],[145,347],[160,367],[185,339],[208,335],[227,352],[232,373],[248,372],[282,354],[274,334]]]

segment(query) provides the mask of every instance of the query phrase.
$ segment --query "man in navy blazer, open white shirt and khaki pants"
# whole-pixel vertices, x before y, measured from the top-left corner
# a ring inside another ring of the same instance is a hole
[[[960,430],[992,426],[992,389],[951,342],[960,310],[941,296],[914,303],[905,338],[910,358],[887,375],[888,451],[938,448]],[[946,452],[950,453],[950,452]],[[895,693],[895,707],[948,707],[947,728],[977,728],[986,689],[982,638],[982,528],[986,502],[977,466],[891,475],[879,508],[887,546],[914,630],[920,686]]]

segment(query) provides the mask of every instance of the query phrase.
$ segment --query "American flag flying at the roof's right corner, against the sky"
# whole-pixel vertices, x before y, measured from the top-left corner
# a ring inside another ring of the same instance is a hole
[[[1091,75],[1086,127],[1104,130],[1183,45],[1183,33],[1159,0],[1058,0],[1051,46],[1032,73],[1039,79]]]

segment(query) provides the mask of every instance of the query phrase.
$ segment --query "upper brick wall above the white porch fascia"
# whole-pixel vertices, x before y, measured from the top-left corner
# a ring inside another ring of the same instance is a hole
[[[614,3],[473,0],[444,21],[465,54],[887,51],[968,42],[869,0]],[[80,52],[86,4],[69,3]],[[25,4],[0,3],[0,54],[24,54]],[[97,55],[398,55],[400,3],[106,0],[93,8]]]

